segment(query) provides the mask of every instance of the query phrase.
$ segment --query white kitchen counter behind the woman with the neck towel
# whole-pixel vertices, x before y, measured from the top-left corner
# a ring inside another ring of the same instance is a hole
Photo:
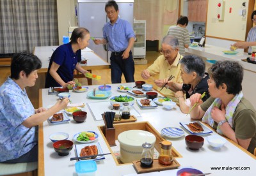
[[[216,47],[213,45],[205,44],[205,47],[189,47],[186,48],[187,54],[195,54],[200,57],[206,57],[207,59],[213,59],[216,61],[237,61],[244,68],[243,78],[243,94],[248,99],[254,108],[256,108],[256,96],[252,96],[255,92],[255,81],[256,81],[256,64],[241,61],[249,57],[246,52],[239,52],[236,55],[224,54],[222,51],[228,50],[228,48]]]

